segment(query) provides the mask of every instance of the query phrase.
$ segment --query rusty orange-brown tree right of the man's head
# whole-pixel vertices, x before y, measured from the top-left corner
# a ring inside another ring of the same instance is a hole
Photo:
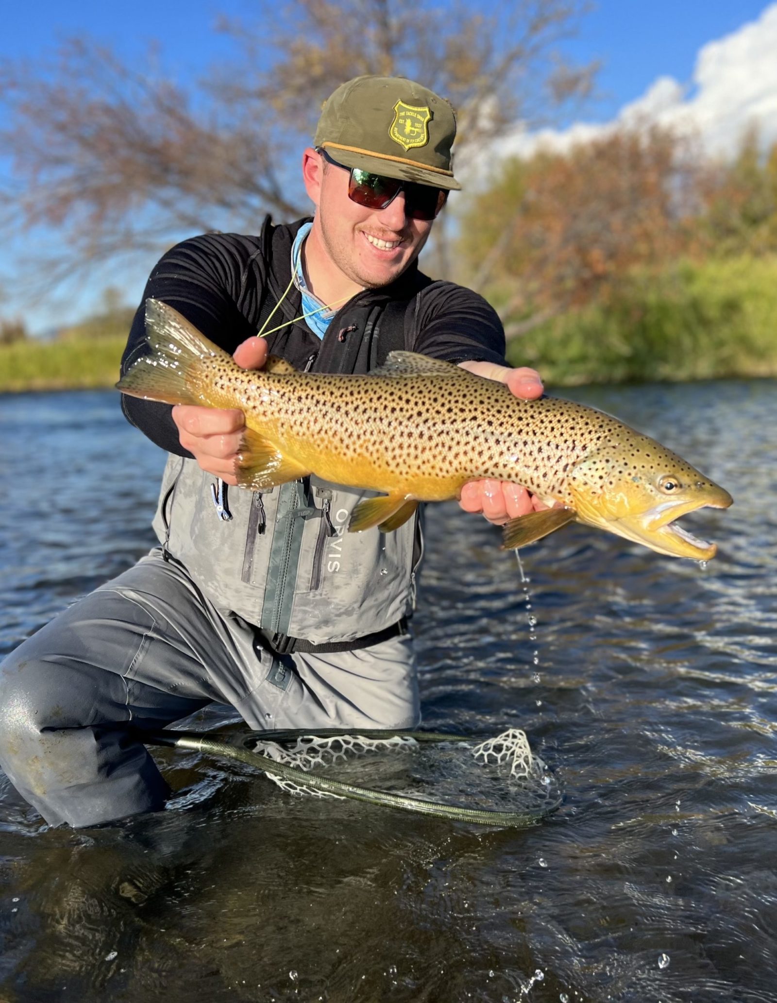
[[[519,333],[690,250],[695,192],[694,161],[671,131],[613,131],[505,163],[466,214],[462,254],[479,266],[476,284],[501,287]]]

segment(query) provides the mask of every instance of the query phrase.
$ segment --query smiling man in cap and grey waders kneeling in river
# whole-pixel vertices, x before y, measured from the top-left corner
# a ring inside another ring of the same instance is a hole
[[[327,101],[303,155],[313,220],[259,237],[205,235],[165,254],[146,285],[207,337],[260,368],[367,372],[406,347],[541,393],[503,364],[494,311],[416,259],[447,194],[455,117],[403,78],[359,77]],[[265,333],[267,340],[257,338]],[[143,304],[122,369],[147,347]],[[240,411],[123,398],[169,452],[160,546],[6,659],[0,763],[51,824],[159,808],[168,788],[128,729],[232,704],[255,728],[409,727],[420,712],[407,618],[421,531],[345,532],[365,492],[315,477],[235,489]],[[503,522],[538,507],[495,481],[461,505]]]

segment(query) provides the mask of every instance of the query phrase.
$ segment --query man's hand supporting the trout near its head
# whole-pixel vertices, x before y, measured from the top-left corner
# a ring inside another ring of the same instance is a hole
[[[516,397],[533,400],[542,396],[542,381],[534,369],[510,369],[493,362],[460,362],[462,369],[486,379],[506,383]],[[525,487],[507,480],[469,480],[461,488],[459,505],[464,512],[481,512],[489,523],[501,526],[507,520],[517,519],[530,512],[546,509],[539,498],[529,494]]]

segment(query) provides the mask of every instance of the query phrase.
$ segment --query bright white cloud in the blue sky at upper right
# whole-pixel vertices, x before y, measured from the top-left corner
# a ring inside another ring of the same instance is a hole
[[[642,97],[604,124],[575,122],[566,129],[527,131],[520,126],[494,152],[529,155],[540,147],[564,150],[621,125],[657,122],[700,137],[710,153],[726,156],[756,125],[764,143],[777,142],[777,3],[756,21],[708,42],[696,59],[693,83],[659,77]]]

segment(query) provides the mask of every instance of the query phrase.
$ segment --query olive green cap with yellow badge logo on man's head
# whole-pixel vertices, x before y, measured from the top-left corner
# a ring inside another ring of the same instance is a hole
[[[357,76],[324,102],[314,145],[346,168],[457,192],[451,104],[403,76]]]

